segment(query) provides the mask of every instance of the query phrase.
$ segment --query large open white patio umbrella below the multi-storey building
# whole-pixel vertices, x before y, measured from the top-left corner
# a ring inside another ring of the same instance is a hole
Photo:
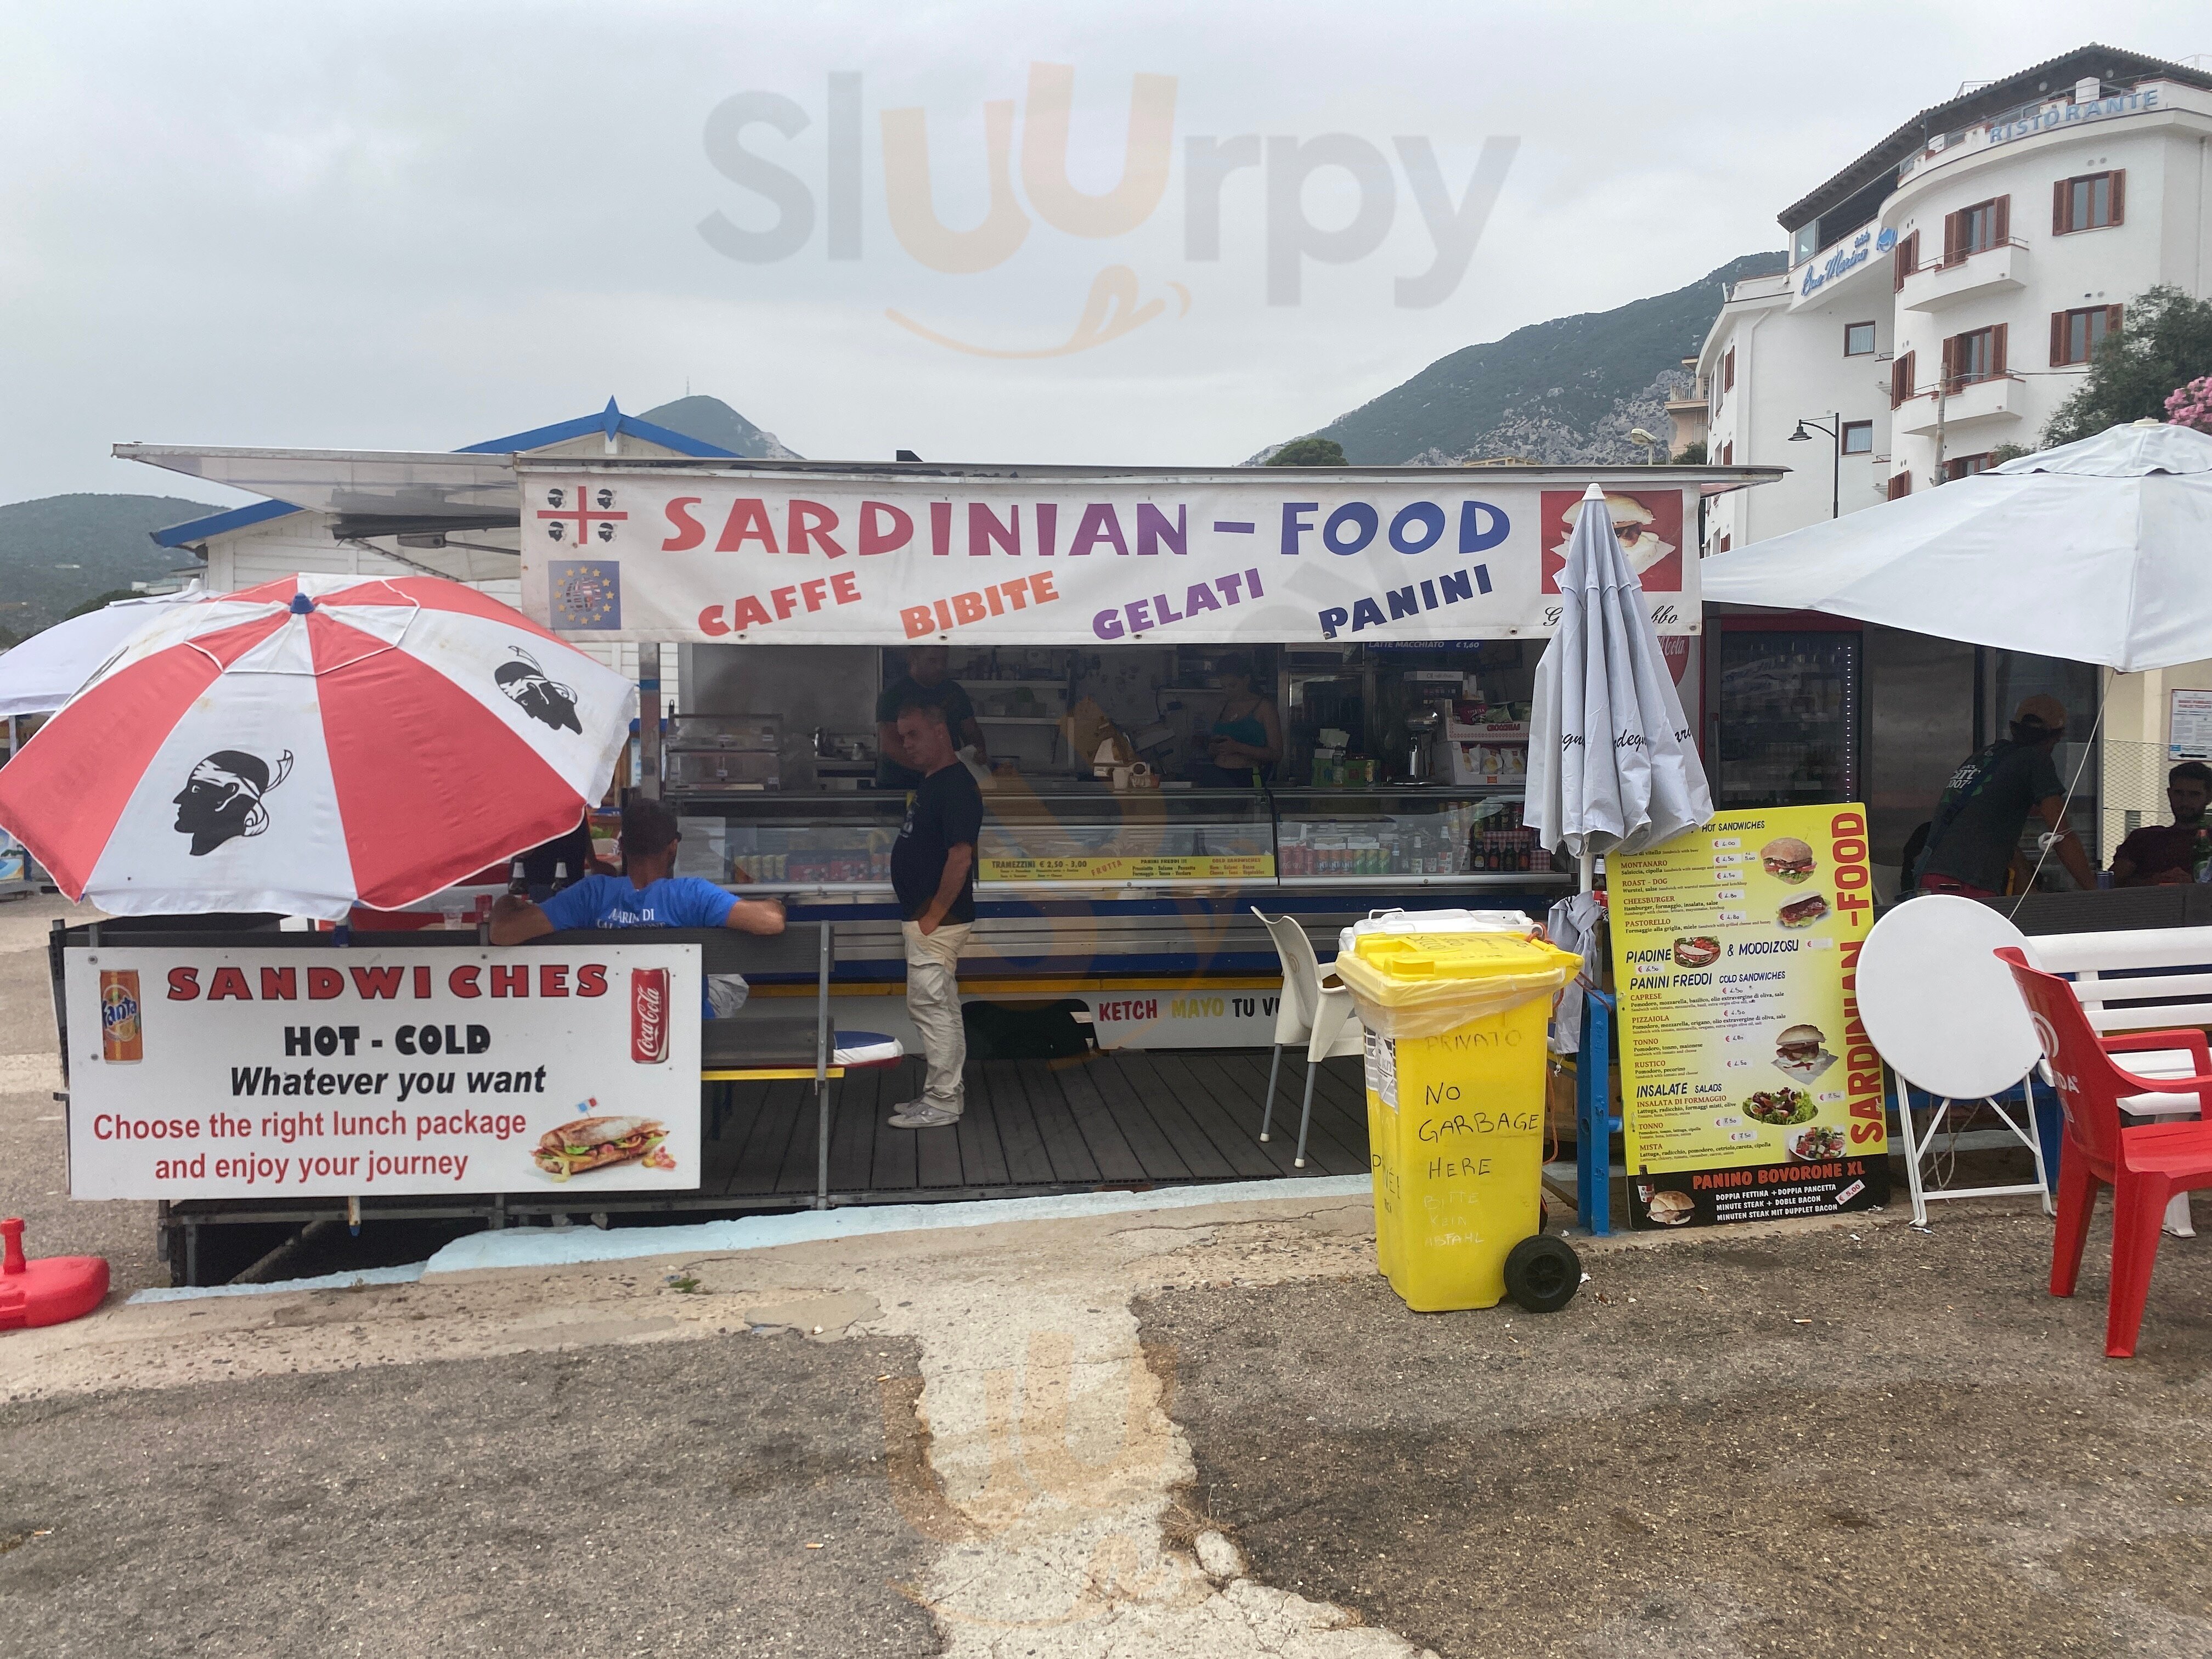
[[[2212,436],[2139,420],[1719,553],[1708,602],[2121,672],[2212,653]]]

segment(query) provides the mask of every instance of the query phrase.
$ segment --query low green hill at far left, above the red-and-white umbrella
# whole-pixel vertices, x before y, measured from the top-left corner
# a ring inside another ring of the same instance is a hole
[[[179,495],[42,495],[0,507],[0,633],[18,639],[97,593],[197,568],[148,533],[212,513]]]

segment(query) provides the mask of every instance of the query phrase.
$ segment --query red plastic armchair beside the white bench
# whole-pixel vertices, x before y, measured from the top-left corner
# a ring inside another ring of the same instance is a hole
[[[2059,1230],[2051,1241],[2051,1294],[2073,1296],[2097,1188],[2112,1188],[2112,1290],[2106,1301],[2104,1352],[2135,1354],[2143,1325],[2150,1267],[2159,1259],[2159,1217],[2174,1192],[2212,1188],[2212,1048],[2203,1031],[2130,1031],[2099,1037],[2066,980],[2028,967],[2013,945],[1997,951],[2013,969],[2035,1020],[2051,1077],[2066,1108],[2066,1155],[2059,1159]],[[2137,1077],[2112,1064],[2115,1053],[2185,1048],[2194,1077]],[[2203,1121],[2119,1121],[2128,1095],[2197,1095]]]

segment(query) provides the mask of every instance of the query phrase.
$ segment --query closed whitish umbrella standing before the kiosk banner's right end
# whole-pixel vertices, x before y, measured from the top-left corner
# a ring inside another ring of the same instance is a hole
[[[1712,816],[1644,586],[1590,484],[1559,571],[1559,628],[1535,670],[1528,807],[1546,849],[1582,860],[1657,847]]]

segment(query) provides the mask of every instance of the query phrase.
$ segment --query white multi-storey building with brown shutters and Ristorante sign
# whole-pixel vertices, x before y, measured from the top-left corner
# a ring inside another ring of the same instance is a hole
[[[1781,223],[1787,270],[1730,290],[1697,372],[1710,458],[1796,471],[1719,498],[1708,551],[2035,449],[2130,296],[2212,292],[2212,75],[2084,46],[1922,111]]]

